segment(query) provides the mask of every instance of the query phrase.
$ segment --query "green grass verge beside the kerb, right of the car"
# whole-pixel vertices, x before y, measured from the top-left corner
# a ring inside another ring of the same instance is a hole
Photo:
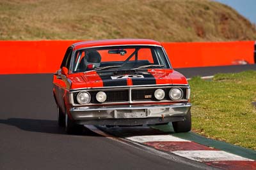
[[[192,78],[193,131],[256,150],[256,71]]]

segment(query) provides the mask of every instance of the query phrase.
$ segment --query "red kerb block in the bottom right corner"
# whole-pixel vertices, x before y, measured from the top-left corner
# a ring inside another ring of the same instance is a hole
[[[218,167],[221,169],[232,169],[232,170],[255,170],[256,161],[248,160],[230,160],[230,161],[218,161],[218,162],[205,162],[209,166]]]

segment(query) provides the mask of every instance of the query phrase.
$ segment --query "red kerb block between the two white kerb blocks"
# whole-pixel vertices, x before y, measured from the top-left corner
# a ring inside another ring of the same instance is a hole
[[[158,150],[164,150],[167,152],[178,151],[178,150],[216,150],[214,148],[209,148],[208,146],[200,145],[195,142],[190,141],[161,141],[161,142],[146,142],[146,145],[152,146]]]

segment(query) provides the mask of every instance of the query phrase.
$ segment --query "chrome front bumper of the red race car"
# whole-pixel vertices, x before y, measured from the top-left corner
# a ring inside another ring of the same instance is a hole
[[[148,104],[74,107],[70,113],[77,124],[141,125],[182,121],[190,109],[190,103]]]

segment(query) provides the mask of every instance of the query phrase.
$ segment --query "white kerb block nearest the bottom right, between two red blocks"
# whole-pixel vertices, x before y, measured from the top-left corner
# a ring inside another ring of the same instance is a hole
[[[200,162],[209,161],[227,161],[227,160],[247,160],[254,161],[252,159],[246,159],[232,153],[224,152],[221,150],[180,150],[173,151],[172,153],[179,155],[180,157],[186,157],[191,160]]]

